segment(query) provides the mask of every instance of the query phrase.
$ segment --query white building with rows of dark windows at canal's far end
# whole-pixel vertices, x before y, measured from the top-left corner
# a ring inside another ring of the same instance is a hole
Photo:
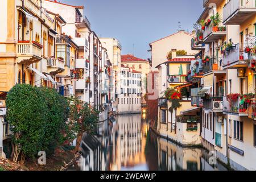
[[[122,64],[121,93],[117,97],[117,113],[141,113],[142,73]]]

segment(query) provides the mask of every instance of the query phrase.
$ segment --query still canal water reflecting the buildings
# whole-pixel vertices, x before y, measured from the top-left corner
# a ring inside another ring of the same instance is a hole
[[[101,123],[97,135],[84,134],[81,147],[82,156],[70,170],[226,170],[219,163],[210,165],[208,152],[201,148],[156,136],[145,114],[118,115]]]

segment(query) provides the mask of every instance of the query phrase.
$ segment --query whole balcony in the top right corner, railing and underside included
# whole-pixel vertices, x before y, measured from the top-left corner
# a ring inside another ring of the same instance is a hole
[[[223,8],[223,23],[242,24],[255,13],[255,0],[230,0]]]

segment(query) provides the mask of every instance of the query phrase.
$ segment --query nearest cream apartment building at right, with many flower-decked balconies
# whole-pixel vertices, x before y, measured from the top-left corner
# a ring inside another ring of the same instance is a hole
[[[255,170],[255,1],[204,0],[203,7],[195,37],[205,44],[201,137],[230,167]]]

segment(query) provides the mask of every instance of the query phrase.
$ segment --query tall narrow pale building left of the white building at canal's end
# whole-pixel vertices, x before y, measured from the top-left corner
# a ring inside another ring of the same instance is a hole
[[[117,111],[117,97],[121,93],[120,90],[120,71],[121,71],[121,43],[115,38],[100,38],[102,47],[107,49],[110,63],[110,102],[112,111]]]

